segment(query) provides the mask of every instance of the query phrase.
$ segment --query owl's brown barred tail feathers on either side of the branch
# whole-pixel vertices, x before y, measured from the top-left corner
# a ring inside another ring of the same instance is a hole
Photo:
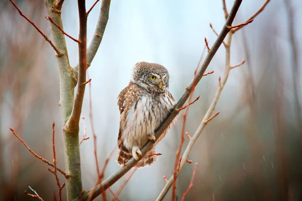
[[[138,163],[135,165],[136,168],[143,168],[145,166],[150,166],[153,162],[157,161],[157,156],[154,155],[155,150],[150,150]],[[123,166],[126,162],[128,162],[132,158],[132,153],[124,147],[120,146],[120,150],[116,156],[116,162]]]

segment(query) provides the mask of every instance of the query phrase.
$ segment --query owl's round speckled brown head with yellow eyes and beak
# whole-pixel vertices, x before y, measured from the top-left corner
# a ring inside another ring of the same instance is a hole
[[[144,88],[165,90],[169,88],[169,72],[160,64],[141,61],[134,65],[131,81]]]

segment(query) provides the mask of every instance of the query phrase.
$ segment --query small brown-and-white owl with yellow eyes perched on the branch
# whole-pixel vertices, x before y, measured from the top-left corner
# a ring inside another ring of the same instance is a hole
[[[123,165],[132,156],[135,160],[140,159],[140,149],[147,140],[155,141],[154,131],[174,106],[175,100],[169,92],[168,70],[156,63],[136,63],[128,86],[118,95],[120,128],[116,161],[119,165]],[[166,133],[167,130],[156,144]],[[153,148],[137,163],[136,167],[149,166],[155,162],[157,156],[154,154]]]

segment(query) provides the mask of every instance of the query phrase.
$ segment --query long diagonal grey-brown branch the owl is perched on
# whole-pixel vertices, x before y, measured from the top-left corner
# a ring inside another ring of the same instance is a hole
[[[104,0],[103,0],[104,1]],[[156,139],[159,139],[159,137],[162,135],[162,133],[168,128],[168,126],[171,124],[173,119],[178,115],[178,109],[181,108],[188,97],[191,94],[191,88],[193,86],[193,82],[195,84],[198,84],[200,79],[202,78],[202,75],[204,74],[206,68],[208,67],[209,63],[211,62],[212,58],[214,57],[215,53],[217,52],[218,48],[220,47],[223,39],[225,36],[229,33],[229,29],[227,28],[228,26],[232,25],[232,22],[236,16],[236,13],[240,7],[242,0],[236,0],[234,3],[234,6],[230,12],[228,20],[226,20],[225,25],[223,26],[219,36],[217,37],[216,41],[214,42],[212,48],[206,55],[206,58],[204,59],[203,63],[201,64],[200,68],[198,69],[196,75],[194,76],[193,80],[190,82],[190,84],[187,86],[186,90],[184,91],[183,95],[179,99],[178,103],[175,106],[175,109],[171,111],[171,113],[166,117],[166,119],[163,121],[163,123],[159,126],[159,128],[156,129],[155,131],[155,136]],[[152,141],[147,141],[147,143],[140,149],[142,152],[143,157],[152,147],[153,147],[154,142]],[[186,161],[185,161],[186,162]],[[120,179],[126,172],[128,172],[135,164],[137,161],[132,157],[124,167],[119,168],[115,173],[113,173],[111,176],[109,176],[106,180],[104,180],[101,184],[99,184],[92,196],[92,199],[97,197],[99,194],[102,193],[101,189],[107,189],[111,185],[113,185],[118,179]],[[80,196],[80,200],[86,200],[87,197],[90,195],[90,192],[92,191],[88,190]]]

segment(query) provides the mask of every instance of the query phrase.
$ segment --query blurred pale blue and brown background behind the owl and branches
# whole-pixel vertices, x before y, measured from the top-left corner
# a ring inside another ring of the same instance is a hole
[[[94,0],[87,1],[89,9]],[[233,0],[227,0],[231,9]],[[243,1],[234,25],[245,22],[265,0]],[[22,12],[52,38],[43,1],[16,0]],[[101,4],[88,18],[88,42],[94,33]],[[190,159],[177,179],[177,200],[189,186],[194,163],[196,176],[186,200],[302,200],[302,91],[301,47],[302,3],[298,0],[271,1],[253,23],[233,36],[231,63],[246,63],[231,71],[212,120],[196,142]],[[65,1],[64,30],[79,34],[78,6]],[[204,48],[224,24],[222,1],[112,1],[109,21],[101,46],[88,76],[97,153],[100,167],[117,144],[119,111],[117,96],[128,84],[131,68],[138,61],[156,62],[170,72],[170,91],[179,99]],[[78,44],[66,37],[71,66],[78,63]],[[44,200],[57,196],[54,176],[10,132],[9,127],[38,155],[52,161],[52,122],[56,123],[58,166],[64,169],[59,79],[55,52],[44,38],[22,18],[9,1],[0,1],[0,200],[22,200],[30,185]],[[204,56],[203,56],[204,58]],[[193,135],[223,75],[224,47],[220,46],[193,98],[186,131]],[[93,138],[89,119],[89,86],[83,117],[87,135],[81,145],[84,189],[97,180]],[[82,120],[81,120],[82,124]],[[158,162],[135,171],[120,200],[155,200],[170,178],[180,142],[180,122],[156,147]],[[81,125],[80,138],[83,135]],[[188,140],[186,139],[185,146]],[[119,166],[114,151],[105,178]],[[129,172],[130,173],[130,172]],[[129,173],[127,175],[129,175]],[[127,176],[111,189],[116,192]],[[59,175],[61,183],[64,178]],[[65,188],[63,190],[65,197]],[[107,190],[107,197],[112,194]],[[65,198],[64,198],[65,199]],[[169,191],[165,200],[171,199]],[[26,196],[26,200],[34,200]],[[102,200],[99,196],[96,200]]]

